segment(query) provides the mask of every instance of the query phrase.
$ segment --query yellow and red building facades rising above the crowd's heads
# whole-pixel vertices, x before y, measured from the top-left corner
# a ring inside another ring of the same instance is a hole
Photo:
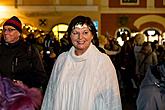
[[[118,36],[120,29],[145,32],[165,31],[165,0],[1,0],[1,25],[17,15],[26,25],[50,31],[68,24],[77,15],[89,16],[98,23],[99,35]]]

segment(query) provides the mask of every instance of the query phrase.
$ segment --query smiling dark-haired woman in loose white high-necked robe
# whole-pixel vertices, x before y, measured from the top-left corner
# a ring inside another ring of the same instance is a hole
[[[96,32],[89,17],[71,21],[73,46],[57,58],[41,110],[122,110],[115,68],[92,44]]]

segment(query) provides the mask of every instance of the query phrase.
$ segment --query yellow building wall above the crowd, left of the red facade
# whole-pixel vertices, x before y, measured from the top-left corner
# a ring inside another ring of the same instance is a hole
[[[2,0],[14,5],[13,0]],[[0,19],[18,16],[23,23],[50,31],[59,23],[69,24],[77,15],[85,15],[100,22],[99,0],[17,0],[18,7],[7,7]],[[2,3],[1,2],[1,3]],[[7,5],[4,5],[7,6]],[[66,6],[66,7],[65,7]],[[96,9],[93,9],[96,8]],[[46,19],[46,26],[40,26],[39,19]]]

